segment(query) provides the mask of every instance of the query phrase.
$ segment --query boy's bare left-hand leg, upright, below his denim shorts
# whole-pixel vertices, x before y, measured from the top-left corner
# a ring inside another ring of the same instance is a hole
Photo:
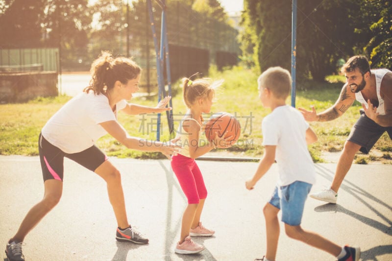
[[[266,259],[275,260],[280,234],[279,209],[267,203],[263,208],[264,218],[266,219],[267,252]]]

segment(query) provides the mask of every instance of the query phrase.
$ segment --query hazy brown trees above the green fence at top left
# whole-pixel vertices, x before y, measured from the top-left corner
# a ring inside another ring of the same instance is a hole
[[[62,58],[86,53],[92,21],[88,0],[5,0],[0,5],[0,46],[59,47]]]

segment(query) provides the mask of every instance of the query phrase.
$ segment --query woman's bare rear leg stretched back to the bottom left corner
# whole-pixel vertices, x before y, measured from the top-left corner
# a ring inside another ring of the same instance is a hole
[[[29,233],[41,219],[49,213],[54,206],[57,205],[63,192],[63,182],[55,179],[49,179],[44,183],[44,198],[30,209],[23,219],[18,232],[10,241],[18,239],[23,241],[27,233]]]

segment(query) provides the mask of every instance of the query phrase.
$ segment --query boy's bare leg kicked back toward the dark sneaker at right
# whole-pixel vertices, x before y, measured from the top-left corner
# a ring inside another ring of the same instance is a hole
[[[342,252],[342,247],[329,241],[328,239],[321,237],[311,231],[306,231],[301,228],[301,226],[290,226],[285,224],[286,235],[293,239],[302,241],[308,245],[319,248],[328,252],[329,254],[337,257]]]

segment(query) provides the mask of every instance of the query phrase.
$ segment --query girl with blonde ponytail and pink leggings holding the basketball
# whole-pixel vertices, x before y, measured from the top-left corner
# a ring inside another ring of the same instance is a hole
[[[193,81],[189,78],[183,79],[183,98],[188,111],[180,121],[177,131],[176,140],[181,149],[178,154],[172,156],[171,164],[181,189],[188,198],[188,206],[182,215],[180,240],[174,249],[177,254],[194,254],[202,251],[204,246],[194,242],[190,236],[208,237],[215,233],[202,226],[200,222],[207,190],[195,159],[216,148],[216,144],[223,144],[220,146],[223,148],[234,143],[231,142],[231,136],[226,139],[216,136],[213,142],[207,144],[200,142],[203,133],[202,114],[211,111],[215,89],[221,83],[222,81],[211,82],[207,78]]]

